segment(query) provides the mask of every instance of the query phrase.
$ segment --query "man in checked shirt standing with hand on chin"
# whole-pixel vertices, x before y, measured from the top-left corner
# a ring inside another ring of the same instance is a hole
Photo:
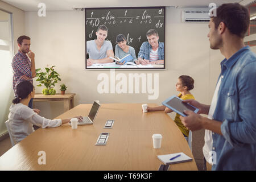
[[[13,57],[11,66],[13,67],[13,90],[14,96],[16,94],[16,86],[24,81],[28,80],[33,84],[32,78],[36,77],[35,71],[35,53],[30,50],[30,37],[22,35],[17,39],[19,50]],[[28,57],[30,59],[28,59]],[[28,107],[32,109],[32,99],[30,100]],[[33,109],[36,113],[40,113],[40,110]]]

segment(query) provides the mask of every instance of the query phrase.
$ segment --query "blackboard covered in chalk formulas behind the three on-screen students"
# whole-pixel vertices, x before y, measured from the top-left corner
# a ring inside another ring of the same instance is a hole
[[[136,7],[113,9],[85,9],[85,40],[97,39],[97,29],[105,24],[108,35],[105,40],[112,43],[115,52],[116,38],[125,36],[127,45],[138,53],[143,42],[147,42],[146,33],[154,29],[158,32],[159,42],[164,43],[165,7]]]

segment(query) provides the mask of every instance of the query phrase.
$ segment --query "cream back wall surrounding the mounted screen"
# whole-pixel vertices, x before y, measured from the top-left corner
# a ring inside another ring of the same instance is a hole
[[[196,100],[210,104],[214,86],[220,73],[220,51],[209,48],[207,23],[182,23],[181,9],[166,9],[166,71],[115,71],[118,73],[159,73],[159,97],[148,100],[148,94],[99,94],[97,85],[100,73],[110,71],[85,70],[85,20],[84,11],[49,11],[46,17],[36,12],[25,13],[26,34],[31,37],[36,68],[56,65],[67,92],[76,93],[75,105],[92,103],[132,102],[160,104],[177,94],[175,84],[180,75],[190,75],[195,80],[192,90]],[[34,79],[35,80],[35,79]],[[36,82],[35,82],[36,83]],[[34,84],[35,85],[35,84]],[[59,91],[58,84],[55,88]],[[36,87],[36,92],[42,88]],[[42,115],[54,118],[63,112],[62,104],[35,104]]]

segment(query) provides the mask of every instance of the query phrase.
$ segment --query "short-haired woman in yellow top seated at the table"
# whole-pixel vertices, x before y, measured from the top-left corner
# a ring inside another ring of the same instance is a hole
[[[195,100],[195,97],[189,92],[194,88],[194,80],[192,77],[187,75],[181,75],[176,84],[176,90],[180,92],[177,97],[181,98],[182,100],[187,99],[193,99]],[[162,106],[156,106],[156,107],[147,107],[147,111],[158,111],[158,110],[164,110],[166,113],[171,113],[172,110],[168,107],[162,105]],[[174,122],[179,127],[180,131],[183,133],[184,137],[188,137],[189,130],[187,127],[183,125],[183,123],[180,120],[180,114],[176,113],[176,117],[174,119]]]

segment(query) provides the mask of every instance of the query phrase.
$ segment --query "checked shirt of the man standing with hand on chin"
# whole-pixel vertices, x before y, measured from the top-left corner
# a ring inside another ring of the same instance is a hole
[[[31,72],[31,61],[28,59],[27,55],[21,51],[18,51],[16,55],[13,57],[13,61],[11,62],[11,67],[13,67],[13,91],[14,96],[16,97],[16,86],[24,81],[22,78],[23,75],[26,75],[30,78],[31,84],[33,84],[32,80],[32,72]]]

